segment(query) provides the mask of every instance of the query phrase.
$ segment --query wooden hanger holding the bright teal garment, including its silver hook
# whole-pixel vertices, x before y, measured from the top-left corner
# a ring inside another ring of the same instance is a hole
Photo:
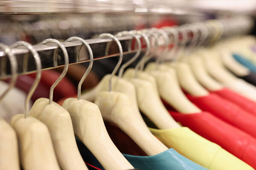
[[[119,46],[119,62],[111,73],[111,75],[114,75],[122,62],[123,56],[121,43],[111,34],[101,34],[101,37],[111,37]],[[112,77],[110,77],[110,82],[111,78]],[[168,150],[166,146],[155,138],[152,133],[145,130],[139,121],[135,119],[136,114],[134,113],[130,99],[126,94],[111,91],[110,86],[109,91],[101,92],[96,96],[95,103],[99,106],[102,117],[105,121],[112,122],[117,125],[148,155],[156,155]]]

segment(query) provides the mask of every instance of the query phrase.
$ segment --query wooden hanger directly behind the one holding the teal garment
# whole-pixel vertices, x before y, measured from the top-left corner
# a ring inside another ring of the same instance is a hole
[[[122,32],[119,32],[117,35],[119,37],[124,36],[124,35],[131,35],[132,37],[134,37],[138,44],[138,51],[134,55],[134,57],[131,58],[131,60],[129,60],[127,63],[125,63],[120,68],[118,77],[113,75],[113,77],[112,77],[113,85],[111,87],[113,88],[113,91],[117,91],[117,92],[128,95],[128,97],[130,98],[130,101],[131,101],[131,105],[134,108],[135,113],[137,114],[137,119],[139,120],[140,124],[143,125],[146,128],[146,130],[148,130],[148,127],[145,124],[145,122],[140,114],[138,105],[137,105],[136,90],[134,88],[134,85],[131,82],[129,82],[128,80],[122,78],[122,73],[123,73],[126,65],[131,64],[131,62],[134,62],[134,60],[137,59],[137,57],[139,57],[140,52],[141,52],[141,42],[140,42],[140,39],[137,38],[137,36],[136,36],[137,32],[122,31]],[[111,43],[109,43],[109,44],[111,44]],[[107,45],[106,55],[108,55],[107,53],[108,53],[109,48],[110,48],[110,45]],[[131,43],[129,45],[129,48],[130,48],[129,50],[131,50]],[[82,94],[81,98],[85,99],[85,100],[89,99],[89,101],[93,102],[95,99],[95,96],[99,92],[108,90],[110,77],[111,77],[111,75],[107,74],[105,77],[103,77],[103,79],[99,82],[99,84],[95,88],[93,88],[92,91],[85,92],[84,94]]]

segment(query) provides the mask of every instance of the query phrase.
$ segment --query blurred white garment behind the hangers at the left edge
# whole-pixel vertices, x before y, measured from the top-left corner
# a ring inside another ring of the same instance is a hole
[[[0,81],[0,94],[9,87],[9,84]],[[0,102],[0,117],[10,122],[12,116],[25,113],[26,93],[18,88],[12,88]],[[30,108],[32,102],[30,102]]]

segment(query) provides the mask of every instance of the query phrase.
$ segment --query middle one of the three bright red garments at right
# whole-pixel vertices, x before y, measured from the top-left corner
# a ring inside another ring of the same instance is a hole
[[[256,116],[217,94],[207,96],[186,95],[198,108],[212,113],[225,122],[238,127],[256,138]]]

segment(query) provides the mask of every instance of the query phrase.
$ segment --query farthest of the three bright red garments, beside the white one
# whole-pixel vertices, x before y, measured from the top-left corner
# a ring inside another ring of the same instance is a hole
[[[240,94],[229,90],[227,88],[223,88],[218,91],[213,91],[212,93],[218,94],[219,96],[230,100],[231,102],[235,103],[236,105],[239,105],[244,110],[249,111],[249,113],[253,113],[253,115],[256,116],[256,102],[241,96]]]

